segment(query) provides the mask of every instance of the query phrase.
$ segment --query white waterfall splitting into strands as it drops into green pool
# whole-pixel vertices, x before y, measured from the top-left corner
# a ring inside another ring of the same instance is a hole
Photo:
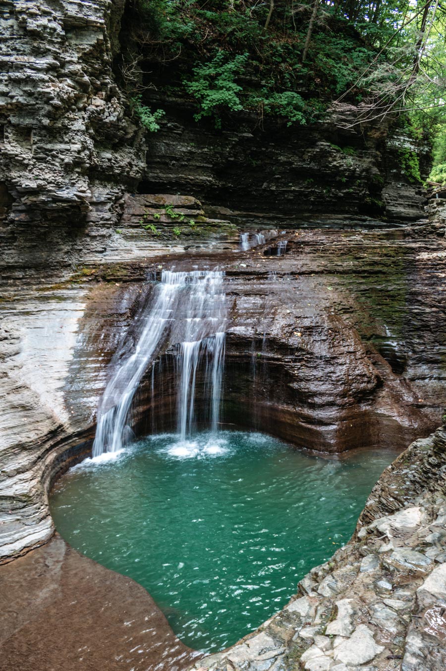
[[[93,456],[117,452],[133,435],[128,425],[131,402],[150,362],[162,346],[180,342],[178,360],[178,430],[184,438],[194,421],[194,391],[199,360],[211,358],[211,428],[217,429],[223,358],[226,304],[223,272],[165,270],[152,301],[138,320],[132,354],[117,368],[107,384],[97,416]],[[208,374],[207,374],[208,376]],[[219,389],[215,389],[218,385]],[[152,374],[152,389],[154,377]]]

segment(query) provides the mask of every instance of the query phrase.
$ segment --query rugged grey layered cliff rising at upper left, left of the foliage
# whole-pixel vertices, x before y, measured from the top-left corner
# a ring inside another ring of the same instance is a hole
[[[5,1],[0,30],[0,263],[50,271],[104,252],[144,165],[111,71],[124,0]]]

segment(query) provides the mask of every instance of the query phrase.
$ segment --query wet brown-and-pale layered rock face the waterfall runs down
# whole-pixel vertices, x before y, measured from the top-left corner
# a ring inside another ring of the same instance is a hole
[[[37,294],[21,287],[3,302],[3,558],[51,535],[45,488],[61,460],[70,463],[67,450],[82,444],[70,459],[88,452],[107,363],[127,351],[124,341],[132,346],[133,320],[142,302],[150,308],[162,268],[225,270],[227,425],[325,452],[402,449],[438,425],[446,405],[441,238],[426,238],[423,227],[286,231],[236,252],[223,231],[213,253],[198,246],[184,256],[194,234],[178,248],[156,238],[152,260],[91,262],[61,285]],[[272,256],[284,238],[288,252]],[[155,395],[152,369],[140,386],[138,431],[175,425],[173,357],[167,350],[155,362]],[[203,393],[199,378],[198,410]]]

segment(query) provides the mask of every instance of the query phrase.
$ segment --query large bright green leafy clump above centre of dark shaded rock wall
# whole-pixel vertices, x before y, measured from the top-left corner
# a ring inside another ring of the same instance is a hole
[[[231,111],[243,109],[239,94],[242,87],[235,82],[235,77],[243,70],[247,54],[238,54],[229,59],[227,52],[221,50],[207,63],[194,68],[194,79],[185,81],[186,91],[193,95],[199,103],[199,111],[195,119],[213,116],[215,126],[221,127],[221,110]]]

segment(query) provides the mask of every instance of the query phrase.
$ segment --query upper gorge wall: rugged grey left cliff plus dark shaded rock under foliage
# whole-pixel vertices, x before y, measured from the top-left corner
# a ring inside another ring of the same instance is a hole
[[[124,0],[1,3],[2,282],[56,279],[86,258],[125,256],[116,231],[126,195],[137,190],[201,199],[211,218],[243,212],[242,227],[259,215],[273,226],[327,213],[423,216],[423,193],[404,174],[401,152],[417,152],[424,164],[427,148],[386,124],[348,128],[358,113],[349,105],[308,127],[261,127],[241,114],[218,131],[192,119],[192,101],[149,88],[146,102],[166,117],[144,138],[117,83],[127,7]],[[163,73],[150,76],[157,83]]]

